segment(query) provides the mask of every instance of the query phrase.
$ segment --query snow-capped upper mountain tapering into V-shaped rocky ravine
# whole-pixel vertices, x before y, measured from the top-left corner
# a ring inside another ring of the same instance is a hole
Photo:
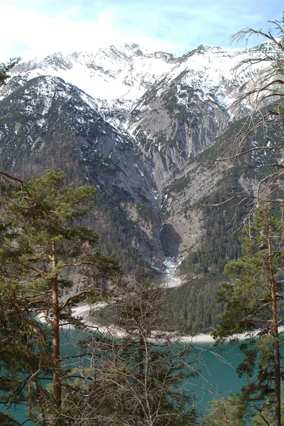
[[[253,107],[249,103],[234,111],[229,107],[269,63],[238,70],[236,65],[271,55],[274,50],[271,43],[246,49],[200,45],[175,58],[126,44],[94,53],[55,53],[17,65],[2,90],[2,99],[45,76],[60,77],[78,87],[85,99],[89,95],[88,102],[105,121],[135,139],[153,163],[155,185],[160,190],[190,158],[210,146],[231,120],[248,114]]]

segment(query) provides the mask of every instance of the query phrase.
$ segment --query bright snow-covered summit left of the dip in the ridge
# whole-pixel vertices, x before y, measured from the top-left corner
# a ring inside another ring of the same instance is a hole
[[[96,99],[136,102],[161,75],[170,72],[175,58],[168,53],[148,53],[136,45],[99,49],[95,53],[55,53],[41,61],[18,65],[13,75],[31,80],[40,75],[61,77]]]

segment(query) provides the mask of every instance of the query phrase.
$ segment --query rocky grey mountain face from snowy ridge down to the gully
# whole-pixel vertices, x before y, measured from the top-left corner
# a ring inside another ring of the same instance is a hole
[[[272,50],[199,46],[175,58],[112,45],[20,63],[1,91],[1,167],[28,179],[57,165],[69,182],[96,185],[130,246],[163,271],[166,257],[180,261],[204,239],[198,203],[228,166],[200,155],[246,116],[249,104],[228,108],[264,72],[234,67]]]

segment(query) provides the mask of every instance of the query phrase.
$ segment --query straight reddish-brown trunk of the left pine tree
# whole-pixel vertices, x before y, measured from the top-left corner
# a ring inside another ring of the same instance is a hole
[[[57,266],[55,243],[52,244],[53,271]],[[58,300],[58,274],[52,278],[53,283],[53,361],[55,369],[53,371],[53,394],[55,410],[61,409],[61,378],[60,378],[60,334],[59,334],[59,300]],[[55,420],[55,426],[60,425],[60,420]]]

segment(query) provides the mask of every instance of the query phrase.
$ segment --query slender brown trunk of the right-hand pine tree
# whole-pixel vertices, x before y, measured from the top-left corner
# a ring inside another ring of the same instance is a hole
[[[273,360],[274,360],[274,393],[275,393],[274,413],[275,413],[275,426],[280,426],[281,425],[280,354],[279,354],[275,275],[273,271],[272,249],[271,249],[270,238],[268,238],[268,261],[269,261],[269,272],[271,277],[271,304],[272,304],[272,324],[273,324]]]

